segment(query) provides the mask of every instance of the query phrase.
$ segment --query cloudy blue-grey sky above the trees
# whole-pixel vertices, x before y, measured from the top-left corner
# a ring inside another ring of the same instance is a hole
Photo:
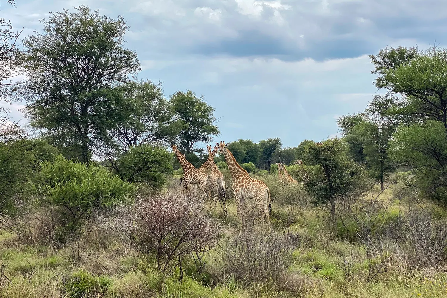
[[[219,118],[216,142],[279,137],[295,147],[339,135],[337,118],[379,92],[368,55],[447,42],[444,0],[0,1],[0,17],[25,27],[23,36],[50,11],[81,4],[124,17],[139,79],[163,82],[166,97],[202,95]],[[13,121],[26,122],[22,105],[8,105]]]

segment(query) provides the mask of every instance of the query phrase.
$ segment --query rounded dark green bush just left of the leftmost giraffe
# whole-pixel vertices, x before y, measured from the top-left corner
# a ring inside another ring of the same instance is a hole
[[[110,168],[122,180],[143,182],[161,189],[166,184],[167,175],[173,173],[171,159],[165,148],[139,145],[124,152],[118,160],[110,160]]]

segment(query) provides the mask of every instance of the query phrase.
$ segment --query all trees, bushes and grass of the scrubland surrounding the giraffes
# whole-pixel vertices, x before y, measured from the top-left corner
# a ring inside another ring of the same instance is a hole
[[[1,97],[30,119],[1,114],[0,297],[447,297],[446,50],[371,55],[386,93],[339,119],[341,139],[230,142],[270,189],[267,227],[236,216],[222,156],[216,208],[181,194],[169,145],[200,166],[214,109],[129,79],[122,18],[81,6],[42,25],[21,45],[0,32],[2,80],[27,78]]]

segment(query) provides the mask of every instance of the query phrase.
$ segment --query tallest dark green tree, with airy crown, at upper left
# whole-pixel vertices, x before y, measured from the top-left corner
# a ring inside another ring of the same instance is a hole
[[[105,140],[107,130],[129,114],[118,84],[139,70],[135,52],[123,48],[129,27],[91,12],[51,13],[41,20],[43,31],[23,40],[20,65],[29,78],[16,88],[25,98],[31,124],[51,133],[61,129],[80,147],[79,159],[89,163],[92,147]]]

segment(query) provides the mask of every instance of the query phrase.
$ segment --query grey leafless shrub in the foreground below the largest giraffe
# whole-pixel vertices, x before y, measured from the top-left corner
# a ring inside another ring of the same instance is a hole
[[[290,233],[262,230],[253,221],[245,221],[216,249],[215,274],[233,276],[245,284],[272,282],[282,287],[289,280],[294,248]]]

